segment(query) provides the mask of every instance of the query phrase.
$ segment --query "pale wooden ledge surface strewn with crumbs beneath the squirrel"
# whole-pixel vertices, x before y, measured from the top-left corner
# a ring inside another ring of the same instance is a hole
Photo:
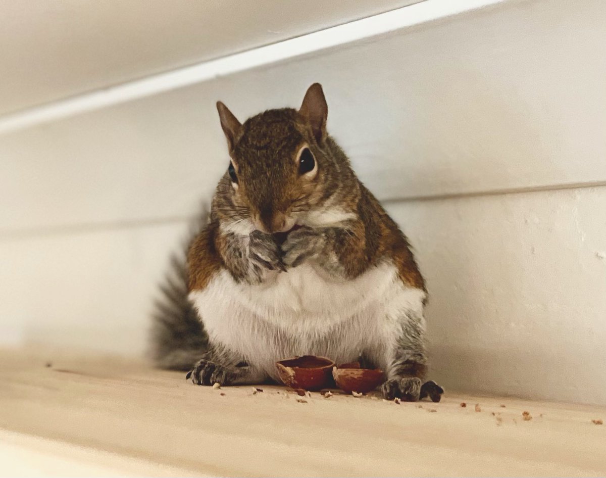
[[[302,403],[284,388],[202,388],[142,363],[40,349],[0,351],[0,383],[0,428],[182,474],[606,473],[606,427],[591,422],[606,409],[594,406],[448,392],[442,403],[338,394]]]

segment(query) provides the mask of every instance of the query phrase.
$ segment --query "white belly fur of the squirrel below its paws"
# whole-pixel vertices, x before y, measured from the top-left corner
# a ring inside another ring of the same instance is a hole
[[[255,286],[222,270],[190,298],[211,342],[276,379],[275,362],[296,355],[344,363],[387,351],[403,321],[423,320],[425,292],[405,286],[390,263],[354,280],[335,280],[306,263]]]

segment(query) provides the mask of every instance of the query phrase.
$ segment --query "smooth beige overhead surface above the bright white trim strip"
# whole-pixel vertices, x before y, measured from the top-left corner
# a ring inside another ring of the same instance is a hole
[[[0,0],[0,115],[419,0]]]

